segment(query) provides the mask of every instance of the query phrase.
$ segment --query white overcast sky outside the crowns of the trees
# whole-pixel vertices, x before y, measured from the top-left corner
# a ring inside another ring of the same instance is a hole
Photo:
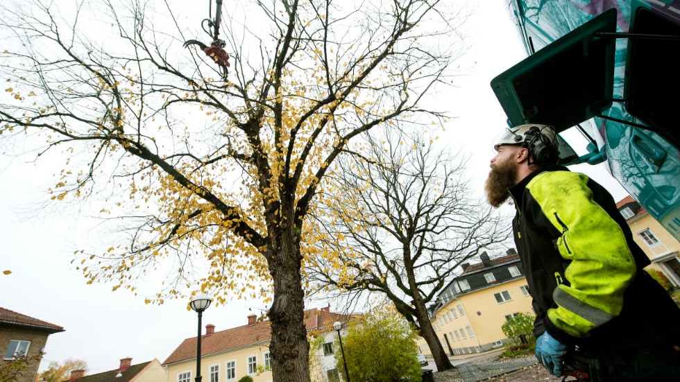
[[[204,3],[200,1],[201,8]],[[470,175],[482,196],[488,160],[493,156],[491,139],[505,126],[504,113],[488,84],[525,58],[525,49],[507,15],[505,0],[474,3],[478,8],[468,19],[467,37],[473,46],[460,61],[461,66],[470,67],[470,73],[459,79],[459,87],[443,95],[456,118],[441,138],[472,155]],[[602,166],[577,169],[608,186],[616,200],[627,195]],[[119,359],[125,357],[132,357],[133,364],[153,358],[164,361],[182,340],[196,336],[196,313],[187,311],[186,301],[145,305],[144,298],[126,290],[112,292],[108,284],[85,285],[83,275],[69,261],[74,243],[91,222],[69,214],[35,216],[34,207],[29,207],[40,198],[40,186],[49,170],[0,157],[0,271],[12,270],[10,275],[0,275],[0,306],[65,328],[50,336],[41,371],[49,361],[62,363],[67,358],[87,362],[88,374],[117,368]],[[248,314],[260,314],[262,309],[257,302],[242,300],[213,306],[203,314],[203,324],[214,324],[216,331],[240,326],[246,324]]]

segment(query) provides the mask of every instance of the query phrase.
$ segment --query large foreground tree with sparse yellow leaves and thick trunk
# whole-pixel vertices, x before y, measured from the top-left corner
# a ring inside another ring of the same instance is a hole
[[[77,252],[88,283],[134,291],[162,276],[146,296],[158,303],[263,297],[273,379],[308,381],[300,269],[315,196],[357,135],[442,122],[420,102],[451,80],[448,6],[230,1],[204,23],[226,40],[225,79],[224,55],[183,47],[201,39],[193,1],[2,1],[1,141],[60,164],[52,198],[118,230]]]

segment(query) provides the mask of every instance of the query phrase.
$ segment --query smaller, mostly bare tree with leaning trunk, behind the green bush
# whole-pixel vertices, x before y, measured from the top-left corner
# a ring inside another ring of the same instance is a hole
[[[461,263],[507,241],[509,229],[475,198],[462,148],[438,148],[434,137],[396,129],[372,135],[367,152],[337,162],[332,179],[346,191],[325,198],[335,220],[319,220],[317,229],[328,234],[310,279],[347,302],[371,294],[389,299],[419,329],[437,370],[446,370],[452,364],[427,305]]]

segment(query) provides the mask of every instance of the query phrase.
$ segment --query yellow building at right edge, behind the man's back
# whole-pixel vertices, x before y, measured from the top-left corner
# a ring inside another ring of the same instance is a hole
[[[678,258],[680,243],[677,239],[631,196],[620,200],[616,203],[616,207],[626,218],[633,232],[633,240],[640,245],[652,261],[649,267],[662,272],[671,284],[678,288],[680,286],[680,260]]]

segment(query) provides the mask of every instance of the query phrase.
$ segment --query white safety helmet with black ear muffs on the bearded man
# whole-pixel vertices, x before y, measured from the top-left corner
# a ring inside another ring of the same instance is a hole
[[[528,123],[502,132],[493,141],[493,149],[502,145],[522,146],[529,149],[535,164],[549,166],[559,160],[559,145],[555,130],[550,125]],[[529,162],[532,164],[532,162]]]

